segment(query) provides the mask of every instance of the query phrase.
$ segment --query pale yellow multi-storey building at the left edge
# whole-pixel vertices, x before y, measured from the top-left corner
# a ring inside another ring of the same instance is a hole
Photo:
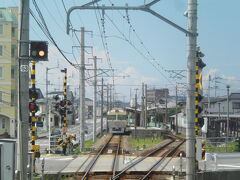
[[[0,135],[16,137],[18,8],[0,8]]]

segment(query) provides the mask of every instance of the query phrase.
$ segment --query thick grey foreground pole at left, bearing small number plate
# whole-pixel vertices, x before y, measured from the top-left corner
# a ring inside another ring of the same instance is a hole
[[[18,94],[18,170],[20,180],[27,179],[29,128],[29,0],[20,1]]]

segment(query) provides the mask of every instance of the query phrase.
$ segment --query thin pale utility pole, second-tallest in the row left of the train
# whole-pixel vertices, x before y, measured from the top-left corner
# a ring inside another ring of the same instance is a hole
[[[96,141],[97,57],[93,57],[93,142]]]

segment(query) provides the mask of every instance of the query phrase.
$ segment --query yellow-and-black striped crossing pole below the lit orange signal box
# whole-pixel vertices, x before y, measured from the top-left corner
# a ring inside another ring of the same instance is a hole
[[[31,119],[31,152],[33,153],[33,172],[35,172],[35,160],[36,157],[40,157],[40,152],[39,152],[39,145],[36,145],[36,139],[37,139],[37,134],[36,134],[36,112],[38,111],[38,107],[36,104],[37,100],[37,92],[36,92],[36,61],[32,61],[32,71],[31,71],[31,84],[32,88],[30,90],[30,98],[31,102],[29,103],[29,110],[31,113],[30,119]]]

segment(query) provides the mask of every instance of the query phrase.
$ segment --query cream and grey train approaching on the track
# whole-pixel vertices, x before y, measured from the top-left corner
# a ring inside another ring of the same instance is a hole
[[[112,109],[107,112],[108,132],[123,134],[128,124],[127,112],[124,109]]]

